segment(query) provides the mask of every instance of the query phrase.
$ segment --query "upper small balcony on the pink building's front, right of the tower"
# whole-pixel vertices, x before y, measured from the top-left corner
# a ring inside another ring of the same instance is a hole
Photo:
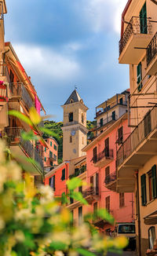
[[[113,160],[113,149],[104,148],[102,152],[93,156],[93,164],[96,167],[103,167]]]

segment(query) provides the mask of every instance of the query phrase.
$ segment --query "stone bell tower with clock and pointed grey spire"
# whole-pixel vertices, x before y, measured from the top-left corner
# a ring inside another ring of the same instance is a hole
[[[63,161],[65,161],[86,155],[86,152],[82,152],[82,148],[86,146],[88,108],[76,90],[71,93],[62,108],[64,109]]]

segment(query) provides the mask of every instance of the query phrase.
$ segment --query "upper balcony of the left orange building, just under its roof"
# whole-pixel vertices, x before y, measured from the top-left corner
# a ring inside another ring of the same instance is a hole
[[[27,110],[34,105],[31,96],[27,92],[27,89],[24,87],[22,82],[10,83],[9,89],[11,92],[12,101],[16,99],[22,101]]]

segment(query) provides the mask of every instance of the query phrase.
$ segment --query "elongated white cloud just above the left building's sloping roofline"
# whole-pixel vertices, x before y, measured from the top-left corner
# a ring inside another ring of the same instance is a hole
[[[24,68],[42,78],[69,79],[80,72],[79,64],[72,57],[57,53],[44,46],[18,44],[14,46]]]

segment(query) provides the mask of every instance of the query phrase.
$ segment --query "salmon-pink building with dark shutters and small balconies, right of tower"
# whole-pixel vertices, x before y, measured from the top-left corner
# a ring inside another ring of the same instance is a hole
[[[93,196],[89,211],[107,208],[116,222],[134,221],[133,193],[116,192],[116,149],[129,134],[127,114],[124,114],[83,149],[86,152],[86,181]],[[95,225],[104,231],[113,229],[101,219]]]

